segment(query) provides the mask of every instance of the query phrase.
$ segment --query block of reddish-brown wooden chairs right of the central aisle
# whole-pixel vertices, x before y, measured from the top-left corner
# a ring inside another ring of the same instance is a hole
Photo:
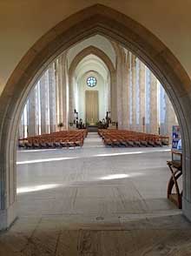
[[[156,147],[169,144],[167,136],[126,130],[98,130],[105,145],[125,147]]]

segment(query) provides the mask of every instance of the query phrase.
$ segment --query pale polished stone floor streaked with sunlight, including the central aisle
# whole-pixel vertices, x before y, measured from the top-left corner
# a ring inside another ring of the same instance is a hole
[[[166,199],[163,148],[17,152],[18,219],[0,256],[191,255],[191,225]]]

